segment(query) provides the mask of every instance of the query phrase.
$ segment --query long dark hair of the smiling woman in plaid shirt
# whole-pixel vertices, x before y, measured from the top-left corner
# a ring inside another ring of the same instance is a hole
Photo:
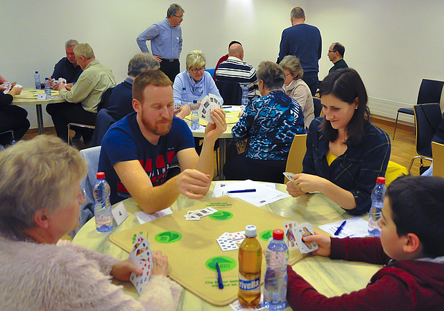
[[[319,85],[321,101],[323,95],[332,94],[337,99],[352,105],[357,98],[359,101],[357,110],[348,122],[348,144],[355,146],[361,142],[366,133],[366,126],[370,119],[370,110],[367,106],[368,96],[366,87],[355,69],[342,68],[335,70],[324,78]],[[324,118],[321,124],[322,132],[327,140],[334,142],[338,138],[338,130],[332,128],[330,121]]]

